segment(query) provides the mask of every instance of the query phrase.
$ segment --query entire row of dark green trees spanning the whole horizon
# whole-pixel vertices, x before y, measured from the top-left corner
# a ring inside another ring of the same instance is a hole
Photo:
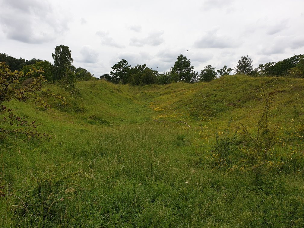
[[[74,67],[73,58],[69,47],[59,45],[55,47],[52,54],[54,64],[47,60],[33,58],[25,60],[23,58],[14,58],[5,53],[0,53],[0,62],[5,62],[11,71],[28,72],[30,69],[42,69],[43,76],[47,81],[60,81],[61,85],[69,90],[74,89],[75,81],[89,81],[96,78],[85,68]],[[215,67],[208,65],[199,73],[194,70],[190,60],[183,54],[178,55],[177,60],[171,67],[170,71],[159,74],[157,70],[147,67],[147,64],[137,64],[131,67],[127,60],[122,59],[111,67],[109,74],[103,74],[100,79],[105,79],[115,84],[169,84],[172,82],[195,83],[198,81],[208,82],[218,77],[231,74],[246,74],[253,77],[274,76],[274,77],[295,77],[304,78],[304,55],[294,55],[290,58],[278,62],[269,62],[260,64],[259,67],[253,68],[250,57],[243,56],[237,62],[234,69],[227,67],[215,70]],[[31,77],[39,75],[31,74]],[[26,78],[23,78],[26,80]],[[21,79],[22,81],[22,79]]]

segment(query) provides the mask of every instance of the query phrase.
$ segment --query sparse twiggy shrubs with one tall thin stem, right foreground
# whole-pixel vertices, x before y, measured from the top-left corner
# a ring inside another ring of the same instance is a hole
[[[265,176],[284,168],[285,162],[288,162],[278,161],[274,157],[274,147],[278,143],[278,124],[269,121],[271,97],[263,84],[261,86],[265,105],[257,121],[256,131],[252,133],[244,124],[232,130],[230,120],[223,134],[219,135],[216,131],[213,154],[209,156],[213,168],[250,173],[255,183],[263,182]]]

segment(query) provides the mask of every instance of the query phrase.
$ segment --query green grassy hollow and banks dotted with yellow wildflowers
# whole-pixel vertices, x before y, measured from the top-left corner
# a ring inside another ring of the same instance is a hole
[[[269,158],[281,165],[257,183],[246,168],[215,167],[210,154],[231,117],[232,129],[256,132],[261,82],[273,98],[269,123],[279,123]],[[74,97],[46,85],[67,98],[47,98],[54,111],[8,104],[52,139],[1,141],[0,227],[304,226],[304,80],[77,87]]]

